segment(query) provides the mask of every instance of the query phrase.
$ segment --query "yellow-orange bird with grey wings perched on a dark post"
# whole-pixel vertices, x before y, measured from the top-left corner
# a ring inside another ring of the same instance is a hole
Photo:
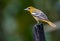
[[[29,11],[31,13],[31,15],[34,17],[34,19],[37,21],[37,23],[42,21],[42,22],[48,23],[52,27],[56,27],[56,25],[54,23],[52,23],[51,21],[48,20],[47,16],[41,10],[36,9],[32,6],[27,7],[24,10]]]

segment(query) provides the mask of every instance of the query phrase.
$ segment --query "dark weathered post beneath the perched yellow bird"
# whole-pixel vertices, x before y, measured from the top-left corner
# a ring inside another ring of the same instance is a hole
[[[35,24],[33,27],[34,41],[45,41],[43,24]]]

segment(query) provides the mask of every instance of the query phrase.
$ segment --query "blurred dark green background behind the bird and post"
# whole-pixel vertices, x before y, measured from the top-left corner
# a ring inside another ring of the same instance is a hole
[[[44,24],[46,41],[60,41],[60,0],[0,0],[0,41],[33,41],[36,24],[28,6],[41,9],[57,27]]]

